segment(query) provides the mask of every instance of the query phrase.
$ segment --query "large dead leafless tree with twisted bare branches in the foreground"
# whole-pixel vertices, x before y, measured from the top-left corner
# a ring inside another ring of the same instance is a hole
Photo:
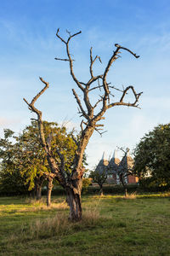
[[[102,134],[102,127],[104,125],[99,124],[99,121],[104,118],[105,112],[109,108],[113,108],[116,106],[127,106],[127,107],[135,107],[138,108],[138,101],[139,96],[141,96],[142,92],[137,93],[132,85],[127,86],[123,90],[117,89],[115,86],[112,86],[109,84],[107,79],[107,74],[110,71],[111,65],[114,61],[116,61],[117,58],[120,57],[120,50],[126,50],[131,55],[133,55],[135,58],[139,58],[139,55],[136,55],[131,51],[130,49],[127,49],[125,47],[122,47],[119,44],[115,44],[116,49],[113,51],[111,55],[111,59],[108,61],[104,73],[99,75],[94,75],[94,62],[99,60],[101,62],[101,59],[98,55],[95,57],[92,53],[92,48],[90,49],[90,66],[89,66],[89,72],[90,72],[90,79],[88,79],[88,82],[81,82],[77,79],[74,70],[73,70],[73,59],[70,52],[70,42],[73,38],[77,37],[80,32],[77,32],[75,34],[71,34],[71,32],[68,32],[68,37],[65,40],[59,35],[59,29],[57,30],[56,36],[59,38],[59,40],[62,42],[62,44],[65,46],[66,55],[67,57],[65,59],[62,58],[55,58],[59,61],[68,61],[70,66],[70,72],[71,77],[77,84],[77,89],[80,90],[83,96],[83,100],[80,96],[78,96],[78,93],[75,89],[72,89],[72,93],[76,98],[77,104],[78,104],[78,111],[82,117],[81,122],[81,135],[79,138],[79,141],[77,142],[77,152],[75,154],[74,162],[72,165],[72,172],[71,174],[66,174],[65,172],[65,160],[61,152],[59,152],[59,149],[57,149],[57,154],[59,155],[60,163],[57,163],[54,158],[54,154],[51,150],[51,139],[48,137],[47,140],[45,140],[44,132],[43,132],[43,126],[42,126],[42,112],[38,110],[34,104],[37,102],[37,99],[39,96],[42,95],[42,93],[48,89],[48,82],[40,78],[42,83],[44,84],[44,88],[35,96],[31,103],[27,102],[26,99],[25,102],[28,104],[29,109],[37,113],[37,122],[39,126],[39,132],[41,137],[41,143],[42,148],[45,149],[45,152],[47,154],[48,164],[51,168],[51,171],[54,173],[55,178],[58,180],[59,184],[65,189],[66,192],[66,201],[70,207],[70,218],[73,221],[80,220],[82,218],[82,204],[81,204],[81,192],[82,192],[82,174],[84,172],[84,169],[82,168],[82,157],[84,150],[86,146],[88,145],[88,141],[90,137],[93,135],[94,131],[98,131],[99,134]],[[90,97],[90,93],[92,91],[98,91],[99,92],[99,99],[94,104],[92,103],[92,97]],[[119,101],[112,101],[113,98],[111,98],[114,91],[117,91],[121,93]],[[126,102],[125,98],[129,91],[132,91],[134,100],[133,102]],[[99,108],[100,106],[100,108]],[[74,138],[75,139],[75,138]]]

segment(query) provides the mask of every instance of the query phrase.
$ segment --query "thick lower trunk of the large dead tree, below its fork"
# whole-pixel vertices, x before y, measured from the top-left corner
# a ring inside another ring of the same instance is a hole
[[[81,192],[77,194],[70,187],[66,188],[66,201],[70,207],[69,219],[71,221],[81,220],[82,219]]]

